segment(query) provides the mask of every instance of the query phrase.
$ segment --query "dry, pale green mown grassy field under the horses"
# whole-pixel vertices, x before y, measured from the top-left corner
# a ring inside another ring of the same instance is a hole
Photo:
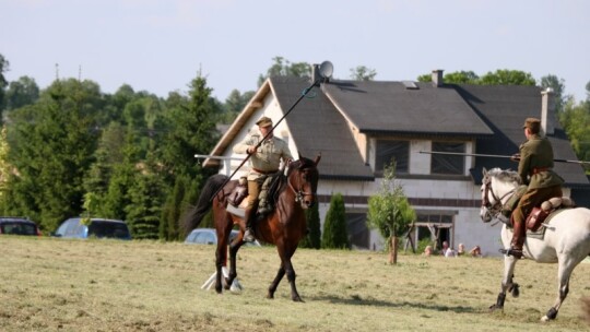
[[[519,298],[488,312],[499,258],[298,250],[293,303],[274,247],[243,248],[241,294],[200,289],[214,270],[212,246],[156,241],[0,236],[0,331],[589,331],[580,298],[590,264],[574,272],[557,320],[542,323],[556,296],[556,265],[519,262]]]

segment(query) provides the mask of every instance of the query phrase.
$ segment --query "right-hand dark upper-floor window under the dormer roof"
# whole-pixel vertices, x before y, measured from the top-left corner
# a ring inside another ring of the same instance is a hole
[[[465,153],[462,142],[433,142],[433,152]],[[465,158],[461,155],[433,154],[430,174],[464,175]]]

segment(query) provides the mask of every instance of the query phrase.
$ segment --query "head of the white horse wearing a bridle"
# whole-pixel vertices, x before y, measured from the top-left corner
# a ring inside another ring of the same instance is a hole
[[[484,223],[489,223],[502,212],[503,204],[515,192],[519,181],[520,177],[516,171],[500,168],[483,169],[480,217]]]

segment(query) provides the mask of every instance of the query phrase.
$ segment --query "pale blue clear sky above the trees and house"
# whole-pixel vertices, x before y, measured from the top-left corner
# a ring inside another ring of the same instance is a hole
[[[273,58],[364,66],[376,81],[498,69],[564,80],[587,98],[587,0],[0,0],[8,81],[56,78],[122,84],[161,97],[199,75],[221,102],[256,91]]]

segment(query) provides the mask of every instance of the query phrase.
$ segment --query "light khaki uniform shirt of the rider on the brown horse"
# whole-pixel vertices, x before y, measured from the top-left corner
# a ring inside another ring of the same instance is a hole
[[[244,141],[234,146],[235,153],[246,154],[248,153],[248,147],[256,146],[260,140],[262,140],[262,134],[260,131],[256,130],[253,133],[246,137]],[[279,138],[267,139],[260,146],[257,152],[250,156],[250,171],[248,173],[248,181],[255,181],[262,176],[263,173],[276,171],[281,165],[281,159],[283,163],[287,159],[293,159],[293,155],[288,150],[288,145],[285,141]],[[261,170],[263,173],[259,173]]]

